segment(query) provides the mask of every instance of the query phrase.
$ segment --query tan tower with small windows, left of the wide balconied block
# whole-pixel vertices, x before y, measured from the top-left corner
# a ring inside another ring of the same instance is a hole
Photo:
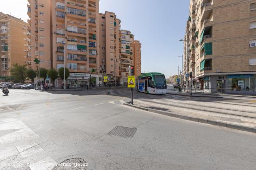
[[[28,0],[27,15],[30,19],[30,48],[32,69],[38,71],[39,67],[51,68],[51,1]],[[41,62],[36,64],[34,59]]]

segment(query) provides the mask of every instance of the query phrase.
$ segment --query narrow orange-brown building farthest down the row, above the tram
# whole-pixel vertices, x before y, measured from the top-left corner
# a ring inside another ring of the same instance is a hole
[[[134,75],[141,75],[141,43],[140,41],[134,41]]]

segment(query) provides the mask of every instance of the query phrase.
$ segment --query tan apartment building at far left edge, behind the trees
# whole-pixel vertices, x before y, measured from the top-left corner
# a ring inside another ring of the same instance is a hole
[[[0,12],[0,81],[10,79],[10,69],[15,63],[31,67],[28,29],[26,22]]]

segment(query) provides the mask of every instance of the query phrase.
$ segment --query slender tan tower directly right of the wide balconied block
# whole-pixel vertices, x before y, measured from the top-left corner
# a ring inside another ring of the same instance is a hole
[[[119,30],[121,20],[115,13],[100,13],[100,62],[103,73],[111,83],[120,82],[119,75]]]

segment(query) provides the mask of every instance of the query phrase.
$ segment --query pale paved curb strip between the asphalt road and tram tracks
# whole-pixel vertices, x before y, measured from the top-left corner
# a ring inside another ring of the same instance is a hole
[[[134,105],[131,105],[130,102],[124,103],[124,105],[179,119],[256,133],[256,115],[255,117],[247,117],[243,116],[242,114],[232,115],[214,112],[207,113],[202,111],[189,112],[188,110],[185,111],[182,108],[175,108],[164,104],[156,104],[153,102],[140,100],[135,100]]]

